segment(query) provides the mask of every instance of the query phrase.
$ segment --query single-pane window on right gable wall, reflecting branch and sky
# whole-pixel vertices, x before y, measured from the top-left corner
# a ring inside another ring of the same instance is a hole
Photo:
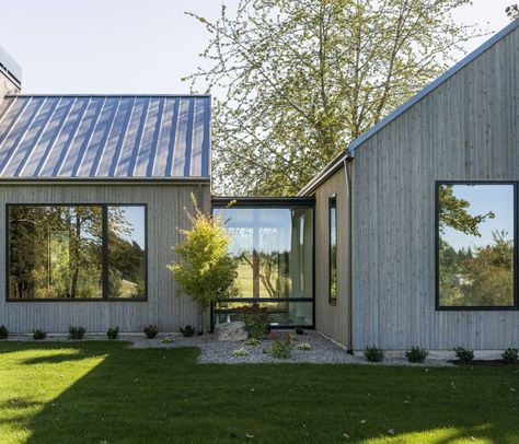
[[[515,188],[438,187],[438,304],[514,306]]]

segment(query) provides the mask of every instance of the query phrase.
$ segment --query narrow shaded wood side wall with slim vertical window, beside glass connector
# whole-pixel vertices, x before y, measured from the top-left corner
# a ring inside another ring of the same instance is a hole
[[[347,294],[347,192],[341,168],[315,191],[315,328],[336,341],[348,344]],[[328,199],[337,197],[337,301],[328,301]]]

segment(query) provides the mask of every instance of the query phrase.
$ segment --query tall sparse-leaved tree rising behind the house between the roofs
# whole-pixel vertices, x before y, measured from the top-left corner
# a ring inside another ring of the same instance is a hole
[[[215,103],[217,188],[295,194],[347,144],[443,72],[478,34],[470,0],[240,0],[196,17],[211,34],[192,89]],[[221,90],[220,90],[221,89]]]

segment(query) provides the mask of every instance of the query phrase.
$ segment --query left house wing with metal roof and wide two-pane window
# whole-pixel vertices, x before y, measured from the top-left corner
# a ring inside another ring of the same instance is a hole
[[[195,325],[165,266],[191,195],[210,208],[210,97],[22,95],[0,78],[0,325]]]

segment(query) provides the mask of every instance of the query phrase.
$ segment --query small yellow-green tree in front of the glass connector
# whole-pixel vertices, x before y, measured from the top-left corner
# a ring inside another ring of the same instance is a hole
[[[178,230],[184,242],[175,247],[178,260],[169,265],[181,292],[201,308],[201,331],[205,315],[211,302],[227,297],[237,279],[237,261],[229,254],[230,237],[226,233],[221,217],[205,214],[194,196],[195,213],[187,213],[191,230]]]

